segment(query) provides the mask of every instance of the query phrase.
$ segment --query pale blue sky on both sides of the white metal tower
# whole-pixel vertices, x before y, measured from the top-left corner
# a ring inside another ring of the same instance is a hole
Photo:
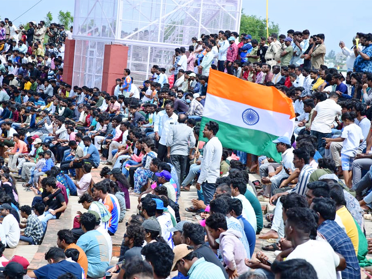
[[[1,19],[8,17],[17,26],[30,20],[39,22],[50,11],[54,21],[58,21],[58,12],[74,11],[74,0],[12,0],[1,4]],[[36,4],[38,3],[38,4]],[[372,25],[369,13],[355,10],[346,0],[269,0],[269,20],[279,24],[280,33],[288,29],[303,31],[309,29],[310,34],[324,33],[327,52],[333,49],[340,52],[339,42],[344,41],[351,47],[356,32],[368,33],[364,26]],[[363,10],[372,10],[372,1],[362,1]],[[31,10],[26,12],[29,8]],[[15,9],[15,6],[17,9]],[[244,13],[266,18],[266,0],[243,0]],[[25,15],[19,17],[23,12]],[[16,19],[16,20],[14,20]]]

